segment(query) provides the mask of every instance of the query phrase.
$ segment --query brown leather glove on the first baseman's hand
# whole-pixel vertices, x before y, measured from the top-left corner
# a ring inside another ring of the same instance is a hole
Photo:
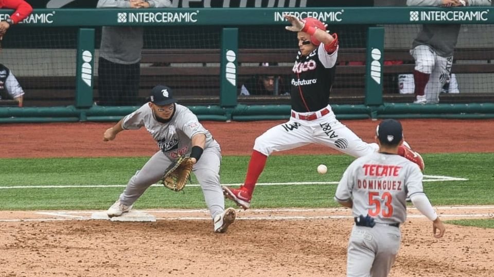
[[[189,156],[180,156],[163,173],[163,186],[173,191],[183,190],[187,181],[190,181],[190,172],[192,172],[193,165]]]

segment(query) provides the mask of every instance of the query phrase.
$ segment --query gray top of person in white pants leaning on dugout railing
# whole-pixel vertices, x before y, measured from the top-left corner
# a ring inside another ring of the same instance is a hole
[[[440,6],[443,0],[407,0],[408,6]],[[491,0],[468,0],[469,6],[490,6]],[[422,30],[414,39],[412,48],[418,45],[432,47],[439,56],[453,55],[458,41],[460,24],[424,24]]]

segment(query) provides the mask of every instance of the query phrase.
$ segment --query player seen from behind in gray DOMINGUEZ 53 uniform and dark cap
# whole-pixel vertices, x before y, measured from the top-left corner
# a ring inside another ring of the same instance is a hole
[[[445,227],[422,188],[417,164],[398,155],[403,129],[395,120],[382,121],[376,130],[379,151],[359,157],[348,166],[334,200],[355,216],[348,243],[347,276],[387,276],[400,249],[400,224],[407,218],[410,197],[432,223],[435,238]]]

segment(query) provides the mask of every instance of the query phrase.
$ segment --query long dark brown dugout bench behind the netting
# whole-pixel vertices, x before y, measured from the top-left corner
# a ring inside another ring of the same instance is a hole
[[[289,77],[296,49],[239,49],[237,88],[252,75]],[[364,102],[365,48],[342,48],[338,54],[337,76],[331,92],[331,103],[362,104]],[[396,76],[412,73],[413,57],[409,49],[384,51],[384,61],[403,61],[402,65],[384,65],[384,102],[411,103],[414,95],[397,93]],[[259,63],[277,66],[259,66]],[[145,49],[142,53],[139,98],[144,102],[156,84],[174,89],[184,105],[214,105],[219,102],[219,49]],[[454,52],[452,73],[494,73],[494,48],[458,48]],[[18,76],[26,94],[25,106],[64,106],[74,103],[75,76]],[[94,99],[98,100],[98,76],[94,77]],[[467,93],[465,93],[467,92]],[[239,96],[241,104],[289,104],[289,96]],[[441,103],[494,102],[494,94],[462,91],[458,95],[441,95]],[[1,103],[0,103],[1,105]]]

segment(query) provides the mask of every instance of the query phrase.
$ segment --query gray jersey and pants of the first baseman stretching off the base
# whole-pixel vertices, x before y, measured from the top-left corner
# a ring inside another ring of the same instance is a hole
[[[201,185],[204,200],[211,216],[222,213],[225,207],[223,190],[220,186],[220,145],[213,136],[199,123],[197,116],[187,107],[175,104],[175,111],[167,123],[158,122],[148,104],[143,105],[135,112],[125,116],[122,121],[123,129],[139,129],[145,127],[156,140],[160,150],[157,151],[142,169],[131,177],[123,193],[120,194],[120,203],[126,206],[134,202],[144,191],[163,178],[165,169],[177,159],[179,155],[190,154],[191,138],[195,134],[206,135],[204,152],[197,163],[192,167]]]

